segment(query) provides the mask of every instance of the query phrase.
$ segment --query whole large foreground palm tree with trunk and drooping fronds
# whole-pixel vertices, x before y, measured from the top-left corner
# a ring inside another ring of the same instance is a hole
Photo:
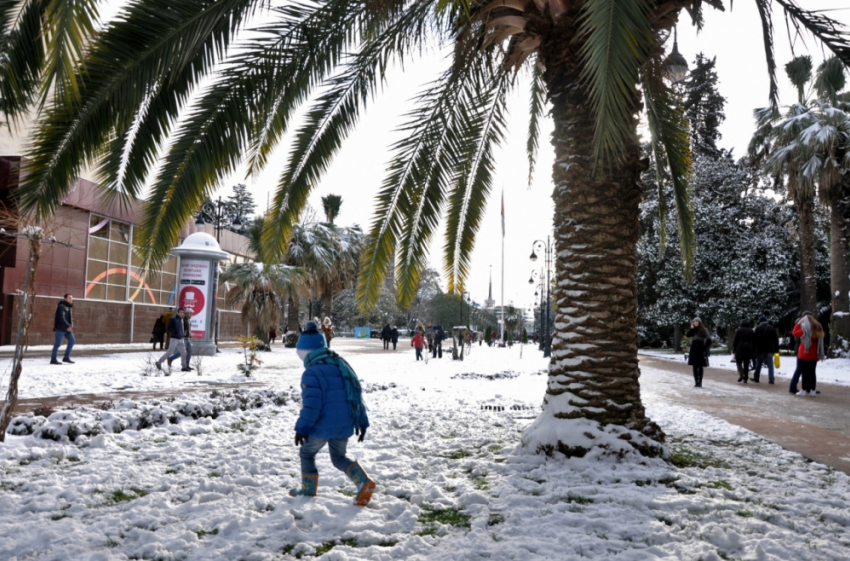
[[[850,62],[850,42],[829,18],[794,0],[756,2],[774,103],[774,2]],[[689,262],[688,133],[663,80],[664,48],[682,9],[700,25],[703,9],[722,8],[722,1],[324,0],[271,9],[251,39],[228,49],[263,5],[131,3],[88,50],[79,96],[41,118],[21,208],[52,213],[82,167],[102,154],[105,191],[137,198],[150,161],[167,145],[143,222],[146,264],[156,266],[217,182],[246,154],[250,172],[263,168],[315,94],[294,131],[263,234],[264,245],[284,256],[310,191],[381,88],[388,64],[452,45],[448,68],[403,125],[408,138],[394,146],[361,256],[360,305],[375,304],[391,267],[400,302],[412,300],[444,208],[448,289],[462,291],[492,186],[493,148],[506,134],[506,100],[518,78],[528,77],[530,167],[547,102],[555,122],[559,281],[546,407],[524,443],[568,456],[596,445],[615,455],[661,453],[663,434],[647,418],[638,384],[635,246],[645,167],[638,115],[646,109],[654,162],[668,180],[661,184],[676,194]],[[201,83],[209,85],[190,100]]]

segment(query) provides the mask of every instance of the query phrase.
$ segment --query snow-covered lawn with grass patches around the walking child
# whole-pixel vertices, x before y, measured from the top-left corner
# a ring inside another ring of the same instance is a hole
[[[362,345],[335,342],[341,351]],[[349,444],[379,484],[369,507],[351,505],[353,485],[326,452],[319,496],[287,496],[298,483],[298,404],[285,392],[301,369],[293,351],[276,349],[262,355],[256,379],[278,393],[251,394],[244,411],[194,420],[184,414],[231,399],[194,393],[57,415],[57,426],[60,417],[100,416],[112,430],[116,419],[156,420],[155,409],[171,416],[161,426],[81,437],[80,445],[7,435],[0,559],[850,558],[848,477],[661,403],[651,381],[676,374],[644,368],[643,387],[680,467],[567,461],[517,448],[546,384],[546,362],[531,346],[522,358],[517,347],[475,347],[462,363],[427,365],[404,351],[346,355],[374,390],[367,439]],[[137,389],[184,384],[197,392],[197,378],[238,382],[234,357],[207,359],[200,377],[142,376],[134,354],[102,367],[87,362],[100,357],[81,358],[78,370],[61,373],[25,365],[30,395],[22,397],[114,391],[110,376]],[[62,377],[78,379],[56,382]]]

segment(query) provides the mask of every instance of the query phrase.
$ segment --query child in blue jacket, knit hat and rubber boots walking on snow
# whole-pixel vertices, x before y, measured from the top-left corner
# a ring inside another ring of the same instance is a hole
[[[357,441],[363,442],[369,427],[360,380],[345,360],[328,349],[315,322],[307,322],[295,348],[306,370],[301,376],[301,415],[295,423],[295,445],[301,447],[301,489],[289,494],[316,496],[316,454],[327,444],[334,467],[357,486],[354,504],[365,506],[375,491],[375,482],[359,463],[345,455],[351,435],[357,434]]]

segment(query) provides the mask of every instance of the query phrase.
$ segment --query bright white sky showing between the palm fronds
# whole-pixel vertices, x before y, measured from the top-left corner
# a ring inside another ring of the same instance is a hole
[[[728,2],[726,3],[728,4]],[[806,9],[833,9],[835,2],[801,0]],[[720,92],[727,98],[726,121],[721,126],[723,138],[720,146],[734,150],[741,156],[746,150],[754,129],[753,109],[764,107],[768,101],[767,64],[762,43],[761,24],[755,2],[738,1],[731,12],[718,12],[706,6],[705,25],[697,33],[687,13],[683,12],[678,27],[679,51],[693,62],[697,53],[716,57]],[[832,10],[834,19],[850,24],[850,9]],[[795,101],[794,90],[785,78],[784,64],[791,60],[791,43],[786,32],[784,18],[774,14],[775,49],[777,75],[780,79],[780,101]],[[810,54],[817,65],[823,60],[819,45],[811,36],[797,38],[794,53]],[[387,162],[391,157],[390,146],[399,138],[394,129],[403,122],[406,111],[414,107],[412,98],[445,66],[441,53],[409,62],[404,68],[395,68],[387,87],[366,111],[357,130],[343,145],[321,184],[310,197],[310,204],[321,209],[321,197],[330,193],[341,195],[342,210],[339,224],[360,224],[368,229],[372,221],[375,195],[384,178]],[[500,194],[505,197],[505,278],[504,301],[516,306],[529,306],[534,300],[535,288],[528,280],[531,271],[540,269],[541,261],[532,264],[529,260],[532,243],[545,240],[552,233],[553,203],[551,199],[551,169],[553,154],[549,144],[552,131],[551,119],[546,119],[540,135],[540,151],[536,172],[529,187],[528,163],[525,155],[525,139],[528,127],[527,87],[510,100],[509,134],[502,147],[495,153],[497,162],[493,192],[475,242],[472,255],[472,271],[466,283],[473,299],[483,302],[487,298],[490,272],[493,278],[493,297],[501,302],[501,225]],[[272,192],[283,169],[285,148],[265,173],[248,179],[257,202],[264,206],[267,194]],[[235,177],[233,182],[241,179]],[[226,189],[225,189],[226,190]],[[438,230],[431,243],[431,266],[442,271],[442,246],[444,228]],[[537,253],[540,253],[538,251]],[[536,284],[536,283],[535,283]],[[445,288],[445,286],[444,286]]]

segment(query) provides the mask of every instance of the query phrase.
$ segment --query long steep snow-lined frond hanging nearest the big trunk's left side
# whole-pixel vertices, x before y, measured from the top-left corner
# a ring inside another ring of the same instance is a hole
[[[501,69],[473,82],[467,95],[473,111],[461,123],[460,152],[454,188],[449,194],[446,226],[445,272],[449,292],[463,292],[469,275],[475,235],[493,179],[493,146],[504,138],[506,94],[511,76]]]

